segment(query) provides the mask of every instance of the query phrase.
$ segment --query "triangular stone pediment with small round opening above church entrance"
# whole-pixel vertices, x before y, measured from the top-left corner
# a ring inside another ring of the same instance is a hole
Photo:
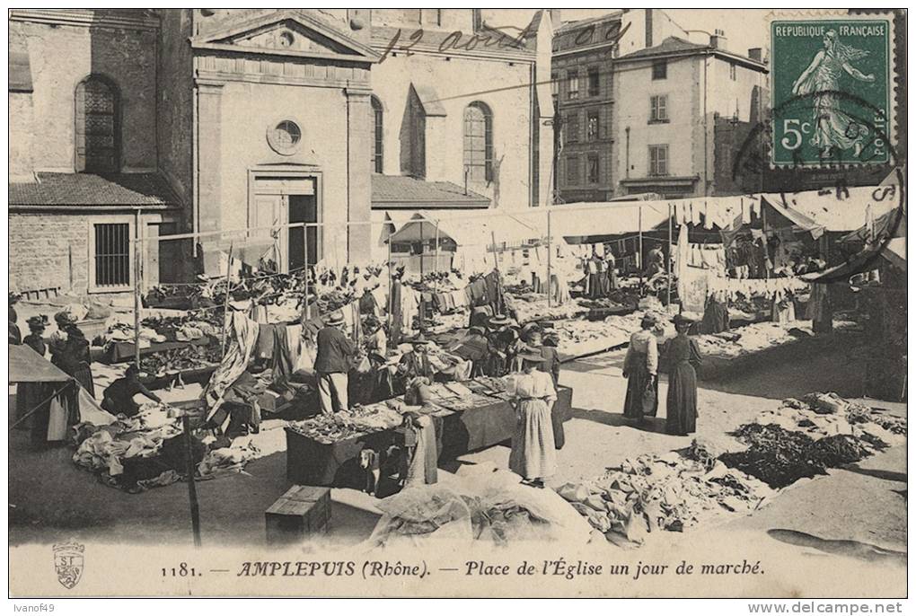
[[[205,38],[191,40],[195,49],[218,49],[246,53],[349,59],[374,62],[373,49],[344,32],[298,11],[276,11]]]

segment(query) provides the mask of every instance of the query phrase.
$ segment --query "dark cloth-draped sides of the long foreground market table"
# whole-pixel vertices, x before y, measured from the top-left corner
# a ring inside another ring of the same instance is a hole
[[[562,435],[562,424],[572,417],[573,390],[560,385],[553,405],[554,433]],[[515,410],[505,400],[466,411],[442,409],[432,414],[437,440],[442,443],[440,459],[454,459],[469,451],[491,447],[512,438]],[[441,422],[441,424],[440,424]],[[359,466],[364,448],[382,451],[394,445],[395,430],[381,430],[334,443],[320,443],[286,428],[287,479],[300,485],[362,488],[365,471]],[[559,440],[559,438],[558,438]],[[562,445],[562,443],[558,443]]]

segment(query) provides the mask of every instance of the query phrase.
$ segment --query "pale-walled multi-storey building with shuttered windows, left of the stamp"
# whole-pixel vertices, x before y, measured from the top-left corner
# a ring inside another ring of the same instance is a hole
[[[615,60],[614,181],[617,195],[735,194],[740,136],[762,117],[767,66],[760,49],[668,37]],[[743,127],[737,130],[735,127]]]

